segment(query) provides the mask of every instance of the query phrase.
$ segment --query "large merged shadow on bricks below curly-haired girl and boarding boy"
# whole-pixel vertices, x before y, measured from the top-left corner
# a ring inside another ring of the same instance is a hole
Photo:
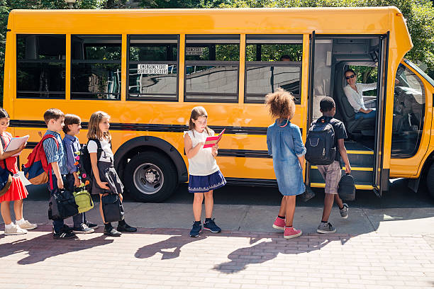
[[[260,242],[262,238],[250,239],[250,244]],[[214,266],[214,270],[222,273],[236,273],[243,271],[249,264],[260,264],[272,260],[280,254],[301,254],[316,251],[329,244],[330,239],[318,239],[318,242],[306,240],[306,244],[299,244],[299,239],[286,240],[272,238],[271,241],[260,242],[254,246],[237,249],[228,255],[230,261]],[[346,240],[341,240],[346,242]]]

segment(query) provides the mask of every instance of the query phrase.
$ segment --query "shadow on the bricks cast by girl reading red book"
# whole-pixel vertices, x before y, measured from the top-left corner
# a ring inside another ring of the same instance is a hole
[[[145,259],[150,258],[157,253],[161,253],[162,260],[178,258],[179,254],[181,253],[182,246],[205,238],[206,236],[199,236],[195,238],[185,236],[172,236],[169,239],[139,248],[135,252],[134,256],[136,258]],[[171,250],[173,248],[174,250]]]

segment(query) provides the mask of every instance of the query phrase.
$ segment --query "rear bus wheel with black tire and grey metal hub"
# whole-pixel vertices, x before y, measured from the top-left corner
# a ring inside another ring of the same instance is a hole
[[[177,169],[165,154],[141,152],[126,164],[123,181],[134,200],[162,202],[177,188]]]

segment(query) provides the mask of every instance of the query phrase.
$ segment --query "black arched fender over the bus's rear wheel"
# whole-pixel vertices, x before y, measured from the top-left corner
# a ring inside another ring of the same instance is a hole
[[[140,147],[153,147],[165,152],[165,154],[172,159],[172,162],[177,168],[178,181],[184,183],[188,180],[187,166],[178,150],[174,146],[170,145],[169,142],[148,135],[134,137],[133,139],[128,140],[128,142],[123,143],[123,145],[116,150],[116,153],[114,154],[114,166],[116,171],[119,171],[120,175],[122,175],[124,169],[123,160],[128,157],[130,152],[138,150]],[[140,150],[138,152],[140,152]]]

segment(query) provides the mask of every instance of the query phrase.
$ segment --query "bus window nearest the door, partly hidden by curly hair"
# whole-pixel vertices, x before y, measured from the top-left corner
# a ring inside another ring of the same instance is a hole
[[[300,103],[301,42],[297,35],[246,35],[245,103],[264,103],[279,87]]]

